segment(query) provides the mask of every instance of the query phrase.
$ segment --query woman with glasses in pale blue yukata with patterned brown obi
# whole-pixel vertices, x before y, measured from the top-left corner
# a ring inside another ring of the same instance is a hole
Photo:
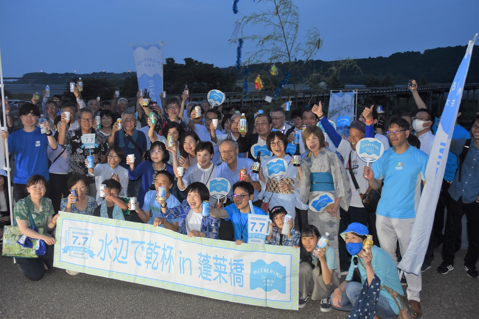
[[[294,223],[297,204],[299,204],[298,209],[302,210],[308,209],[308,205],[304,204],[299,196],[299,187],[295,183],[297,170],[293,166],[291,155],[285,153],[287,145],[288,139],[281,131],[270,132],[266,137],[266,147],[274,155],[261,163],[260,173],[258,174],[261,192],[258,198],[262,199],[263,203],[269,203],[269,207],[283,206],[286,211],[291,213]],[[281,179],[269,178],[268,165],[277,158],[286,161],[285,175]]]

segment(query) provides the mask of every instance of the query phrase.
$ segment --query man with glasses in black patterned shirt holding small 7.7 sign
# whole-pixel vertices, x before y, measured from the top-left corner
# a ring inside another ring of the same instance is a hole
[[[73,114],[70,114],[70,119]],[[87,168],[85,167],[85,159],[90,154],[93,156],[93,162],[95,164],[105,162],[105,154],[108,150],[108,143],[106,141],[106,136],[97,133],[93,129],[93,121],[95,117],[93,111],[89,108],[82,108],[78,111],[78,123],[80,128],[78,130],[69,130],[67,132],[68,120],[65,119],[65,112],[61,114],[62,126],[58,132],[58,144],[60,145],[70,145],[71,155],[70,163],[68,167],[68,177],[73,174],[80,174],[88,176]],[[81,136],[83,134],[95,134],[95,148],[86,149],[81,141]],[[82,147],[83,146],[83,147]],[[96,185],[93,177],[89,178],[89,189],[88,195],[95,198],[96,197]]]

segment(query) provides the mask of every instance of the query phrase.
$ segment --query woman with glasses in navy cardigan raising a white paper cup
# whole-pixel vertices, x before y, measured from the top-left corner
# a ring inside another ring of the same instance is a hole
[[[146,157],[148,160],[142,162],[136,168],[134,167],[135,162],[131,162],[130,159],[126,157],[126,165],[129,165],[129,178],[141,180],[141,187],[138,190],[137,196],[138,207],[143,207],[145,194],[148,190],[155,189],[155,178],[159,171],[167,170],[170,174],[173,174],[173,166],[168,164],[170,153],[166,150],[166,146],[163,142],[156,141],[151,143]],[[132,212],[130,215],[130,221],[141,222],[136,212]]]

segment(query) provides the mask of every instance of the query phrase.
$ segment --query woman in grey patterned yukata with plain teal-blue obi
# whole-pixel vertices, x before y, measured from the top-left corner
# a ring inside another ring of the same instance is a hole
[[[339,264],[339,208],[348,210],[351,185],[338,156],[324,147],[324,135],[318,126],[308,126],[303,132],[303,141],[311,154],[296,168],[301,199],[305,204],[309,201],[308,223],[318,227],[321,234],[330,233],[329,245],[334,248]],[[313,210],[313,199],[328,194],[334,201],[324,209]]]

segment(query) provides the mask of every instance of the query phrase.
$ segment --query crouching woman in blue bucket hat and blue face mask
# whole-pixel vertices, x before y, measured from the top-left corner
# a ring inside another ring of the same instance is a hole
[[[383,249],[372,246],[363,250],[363,244],[368,235],[367,227],[361,223],[351,223],[340,235],[346,242],[348,253],[353,256],[346,280],[331,295],[332,307],[336,310],[351,311],[363,284],[371,285],[375,275],[379,278],[379,298],[376,302],[376,316],[381,319],[395,318],[399,314],[399,307],[393,297],[384,288],[394,290],[398,295],[404,295],[399,281],[398,269],[392,257]],[[357,258],[359,257],[359,258]],[[355,265],[354,260],[358,262]],[[358,274],[359,273],[359,274]]]

